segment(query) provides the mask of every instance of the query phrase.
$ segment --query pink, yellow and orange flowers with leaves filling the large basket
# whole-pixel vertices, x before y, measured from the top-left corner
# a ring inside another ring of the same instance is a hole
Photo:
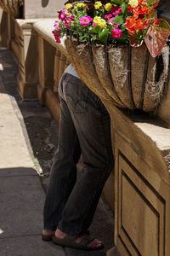
[[[83,2],[83,1],[82,1]],[[97,44],[128,44],[139,47],[144,42],[156,57],[167,42],[170,26],[156,15],[157,0],[94,1],[93,13],[88,4],[66,3],[54,23],[54,38],[60,43],[68,29],[80,41]]]

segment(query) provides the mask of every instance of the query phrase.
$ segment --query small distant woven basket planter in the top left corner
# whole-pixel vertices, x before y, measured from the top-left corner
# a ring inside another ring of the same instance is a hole
[[[20,16],[20,6],[23,4],[24,0],[0,0],[2,9],[15,17]]]

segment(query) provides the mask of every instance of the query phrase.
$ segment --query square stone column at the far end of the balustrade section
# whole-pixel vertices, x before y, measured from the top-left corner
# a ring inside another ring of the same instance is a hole
[[[32,22],[15,20],[15,37],[11,41],[11,49],[19,61],[17,78],[20,95],[23,98],[37,98],[37,35],[32,30]]]

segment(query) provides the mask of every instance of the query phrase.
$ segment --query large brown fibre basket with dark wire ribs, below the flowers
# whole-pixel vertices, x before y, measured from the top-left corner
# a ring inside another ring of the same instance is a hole
[[[128,45],[82,44],[68,36],[68,55],[82,81],[101,100],[120,108],[154,112],[161,102],[169,72],[169,46],[165,45],[156,58],[143,44]]]

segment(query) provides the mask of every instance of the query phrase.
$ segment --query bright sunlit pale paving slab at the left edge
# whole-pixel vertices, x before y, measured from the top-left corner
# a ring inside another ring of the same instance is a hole
[[[19,118],[10,96],[0,96],[0,168],[33,167]]]

